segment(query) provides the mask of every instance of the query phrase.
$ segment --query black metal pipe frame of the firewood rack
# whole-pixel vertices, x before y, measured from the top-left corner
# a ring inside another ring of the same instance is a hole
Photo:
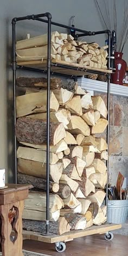
[[[41,19],[42,17],[47,17],[47,20]],[[91,70],[86,70],[82,68],[76,68],[72,66],[66,66],[62,64],[54,64],[50,60],[50,44],[51,44],[51,25],[67,28],[67,29],[72,29],[70,26],[63,25],[61,23],[56,23],[52,22],[52,15],[50,13],[45,13],[45,14],[37,14],[37,15],[28,15],[24,17],[15,17],[12,20],[12,71],[13,71],[13,95],[14,95],[14,132],[15,132],[15,124],[16,124],[16,68],[21,68],[21,69],[26,69],[30,71],[37,71],[37,72],[43,72],[47,73],[47,196],[46,196],[46,234],[49,234],[49,138],[50,138],[50,75],[51,74],[56,74],[55,72],[51,71],[51,66],[60,66],[61,68],[67,68],[67,69],[72,69],[72,70],[80,70],[80,71],[87,71],[87,72],[94,72]],[[47,58],[47,71],[46,70],[39,70],[39,69],[33,69],[33,68],[27,68],[27,67],[20,67],[16,64],[16,22],[17,21],[23,21],[23,20],[37,20],[41,21],[44,23],[48,23],[48,58]],[[110,54],[111,54],[111,32],[110,31],[97,31],[97,32],[91,32],[91,31],[84,31],[82,29],[78,28],[73,28],[74,31],[81,32],[82,34],[77,34],[76,38],[79,38],[81,36],[87,36],[87,35],[96,35],[96,34],[108,34],[108,69],[111,69],[110,66]],[[98,72],[97,74],[103,74],[103,72]],[[56,75],[61,75],[57,73]],[[66,75],[65,75],[66,76]],[[74,76],[68,76],[68,77],[74,77]],[[111,75],[108,74],[107,78],[107,109],[108,109],[108,126],[107,126],[107,143],[109,145],[109,119],[110,119],[110,78]],[[15,144],[15,182],[17,183],[17,152],[16,152],[16,137],[14,138],[14,144]],[[109,150],[108,150],[109,152]],[[107,161],[107,174],[108,174],[108,161]],[[107,204],[107,188],[108,188],[108,181],[106,185],[106,204]]]

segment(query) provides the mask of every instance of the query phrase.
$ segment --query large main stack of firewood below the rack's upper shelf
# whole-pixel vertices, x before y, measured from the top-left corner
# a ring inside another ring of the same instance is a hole
[[[23,228],[46,228],[47,79],[17,78],[18,183],[32,184]],[[97,137],[108,124],[100,96],[77,82],[50,80],[50,231],[63,234],[106,221],[107,144]]]

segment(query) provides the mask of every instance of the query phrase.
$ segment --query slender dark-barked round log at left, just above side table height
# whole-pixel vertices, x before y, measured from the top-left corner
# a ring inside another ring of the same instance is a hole
[[[47,185],[46,185],[46,180],[44,180],[44,179],[18,173],[17,181],[18,181],[18,184],[31,184],[31,185],[33,185],[33,187],[35,187],[37,189],[46,191]],[[59,184],[57,184],[53,181],[49,181],[49,191],[50,192],[54,192],[54,193],[58,192],[59,193],[59,190],[60,190]]]

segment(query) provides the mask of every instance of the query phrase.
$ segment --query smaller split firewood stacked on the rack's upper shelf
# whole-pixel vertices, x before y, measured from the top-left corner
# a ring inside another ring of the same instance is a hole
[[[107,68],[107,47],[96,42],[75,41],[72,35],[52,33],[51,57],[56,61],[78,63],[92,68]],[[17,41],[17,61],[47,59],[47,34]]]

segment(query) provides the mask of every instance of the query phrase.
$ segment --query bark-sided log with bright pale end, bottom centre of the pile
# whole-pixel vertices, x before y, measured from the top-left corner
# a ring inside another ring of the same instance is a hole
[[[82,229],[84,230],[86,227],[86,218],[78,215],[78,214],[66,214],[65,218],[69,225],[71,226],[71,230],[78,230]]]

